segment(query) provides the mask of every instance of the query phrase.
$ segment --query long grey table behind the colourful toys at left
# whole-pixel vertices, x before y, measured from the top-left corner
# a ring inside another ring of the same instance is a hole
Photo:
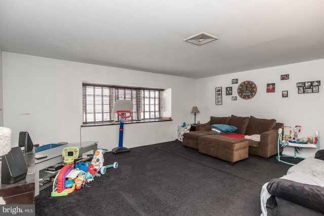
[[[69,143],[66,145],[58,146],[55,148],[51,148],[45,151],[41,151],[35,154],[39,155],[46,155],[46,158],[42,159],[35,159],[35,196],[39,194],[39,174],[41,172],[45,172],[44,169],[46,167],[49,167],[51,165],[61,163],[63,161],[62,159],[62,151],[65,147],[78,147],[79,148],[79,154],[82,155],[86,152],[93,151],[98,148],[98,142],[97,141],[86,141],[86,142],[76,142],[76,143]],[[55,174],[54,174],[55,176]],[[43,188],[45,189],[45,188]]]

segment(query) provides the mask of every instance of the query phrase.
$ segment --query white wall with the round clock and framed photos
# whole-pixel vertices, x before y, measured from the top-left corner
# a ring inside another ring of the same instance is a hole
[[[253,115],[259,118],[274,118],[287,126],[301,125],[299,137],[315,136],[315,131],[324,133],[324,59],[290,64],[285,66],[244,71],[208,78],[197,79],[197,106],[200,113],[196,119],[207,122],[210,116]],[[287,80],[280,80],[280,75],[289,74]],[[231,80],[238,78],[237,84]],[[250,100],[243,100],[237,95],[238,84],[251,80],[257,85],[257,93]],[[319,93],[298,94],[297,82],[320,80]],[[275,93],[266,93],[266,84],[275,83]],[[215,105],[215,88],[222,87],[223,105]],[[225,88],[233,87],[232,96],[225,95]],[[281,91],[288,91],[288,98],[282,98]],[[285,133],[289,133],[285,130]],[[285,148],[284,153],[292,155],[293,148]],[[324,149],[324,144],[321,146]],[[303,149],[303,156],[313,156],[314,150]]]

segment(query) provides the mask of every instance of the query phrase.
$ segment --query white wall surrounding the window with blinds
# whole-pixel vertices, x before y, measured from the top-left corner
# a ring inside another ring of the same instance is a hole
[[[125,124],[124,146],[132,148],[177,139],[177,127],[193,122],[195,79],[3,52],[4,125],[29,132],[34,144],[78,142],[82,124],[82,83],[171,89],[173,121]],[[168,113],[169,114],[169,113]],[[118,126],[82,127],[82,141],[118,146]]]

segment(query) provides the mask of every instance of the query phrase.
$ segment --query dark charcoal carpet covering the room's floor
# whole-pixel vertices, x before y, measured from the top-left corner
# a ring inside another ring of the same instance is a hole
[[[118,168],[67,196],[41,191],[36,215],[260,215],[262,185],[291,167],[255,155],[231,166],[179,141],[104,157]]]

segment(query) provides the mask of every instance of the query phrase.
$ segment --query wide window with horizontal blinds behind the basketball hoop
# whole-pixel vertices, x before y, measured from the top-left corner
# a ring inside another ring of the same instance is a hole
[[[119,99],[133,101],[132,117],[128,121],[160,119],[163,117],[163,92],[162,89],[84,83],[83,123],[118,122],[113,105]]]

